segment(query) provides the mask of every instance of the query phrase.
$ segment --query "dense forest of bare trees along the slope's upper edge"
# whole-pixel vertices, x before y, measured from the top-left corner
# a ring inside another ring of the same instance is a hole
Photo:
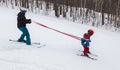
[[[120,0],[0,0],[0,4],[28,8],[32,12],[41,10],[49,15],[64,17],[73,22],[106,28],[120,29]]]

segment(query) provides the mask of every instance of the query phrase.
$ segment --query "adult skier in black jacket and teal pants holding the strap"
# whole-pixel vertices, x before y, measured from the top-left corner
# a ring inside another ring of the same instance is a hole
[[[22,32],[18,42],[25,42],[27,45],[31,45],[31,39],[26,24],[31,23],[31,19],[26,19],[25,14],[27,10],[20,9],[17,15],[17,27]],[[24,39],[26,37],[26,40]]]

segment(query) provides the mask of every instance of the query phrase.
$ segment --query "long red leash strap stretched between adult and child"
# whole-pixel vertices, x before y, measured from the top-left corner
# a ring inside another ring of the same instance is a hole
[[[74,36],[74,35],[71,35],[71,34],[68,34],[68,33],[65,33],[65,32],[62,32],[62,31],[59,31],[59,30],[56,30],[56,29],[53,29],[53,28],[50,28],[50,27],[48,27],[48,26],[46,26],[46,25],[43,25],[43,24],[41,24],[41,23],[39,23],[39,22],[36,22],[36,21],[33,21],[33,22],[36,23],[37,25],[42,26],[42,27],[51,29],[51,30],[53,30],[53,31],[59,32],[59,33],[64,34],[64,35],[67,35],[67,36],[72,37],[72,38],[74,38],[74,39],[81,40],[81,38],[78,37],[78,36]]]

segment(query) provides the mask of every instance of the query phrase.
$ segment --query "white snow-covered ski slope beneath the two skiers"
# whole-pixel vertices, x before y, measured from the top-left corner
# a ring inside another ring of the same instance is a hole
[[[120,70],[120,33],[27,12],[27,18],[76,36],[94,29],[90,49],[98,55],[94,61],[76,55],[83,50],[80,41],[34,23],[28,25],[31,39],[45,47],[10,42],[21,34],[16,27],[18,12],[0,7],[0,70]]]

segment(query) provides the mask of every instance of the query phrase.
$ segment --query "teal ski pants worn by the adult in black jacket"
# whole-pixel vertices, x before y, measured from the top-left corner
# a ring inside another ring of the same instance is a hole
[[[31,44],[31,39],[30,39],[30,34],[29,31],[26,27],[18,27],[18,29],[22,32],[19,40],[23,41],[24,38],[26,37],[26,44],[30,45]]]

